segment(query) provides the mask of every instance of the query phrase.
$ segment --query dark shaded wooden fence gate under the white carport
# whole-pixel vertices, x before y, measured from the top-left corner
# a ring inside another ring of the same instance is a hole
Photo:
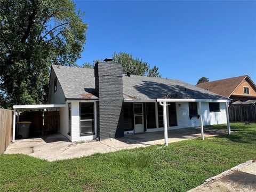
[[[59,111],[24,111],[19,122],[30,121],[29,136],[40,136],[58,133],[60,127]]]

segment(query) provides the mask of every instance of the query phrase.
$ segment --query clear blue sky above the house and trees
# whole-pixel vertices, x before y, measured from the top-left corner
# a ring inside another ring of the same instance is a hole
[[[256,83],[256,1],[75,1],[87,40],[78,64],[131,53],[162,77]]]

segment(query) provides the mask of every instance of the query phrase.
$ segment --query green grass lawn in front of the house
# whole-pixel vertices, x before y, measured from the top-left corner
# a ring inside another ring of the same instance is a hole
[[[226,125],[211,126],[227,129]],[[0,157],[1,191],[186,191],[256,158],[256,124],[231,123],[231,135],[47,162]]]

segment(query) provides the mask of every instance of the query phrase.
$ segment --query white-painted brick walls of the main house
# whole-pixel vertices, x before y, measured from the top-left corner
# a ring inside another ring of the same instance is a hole
[[[70,101],[70,103],[71,103],[71,137],[68,137],[68,138],[70,138],[72,142],[95,139],[96,134],[80,137],[79,101]],[[169,127],[169,130],[200,126],[200,118],[197,119],[197,117],[192,117],[191,119],[189,119],[188,102],[181,102],[181,103],[177,102],[176,111],[177,111],[178,126],[171,126]],[[220,103],[220,112],[210,113],[209,103],[202,102],[202,114],[203,114],[204,125],[215,125],[215,124],[227,123],[226,103]],[[67,137],[66,133],[68,131],[68,106],[60,110],[60,121],[61,121],[60,127],[63,126],[61,128],[62,130],[61,134]],[[169,119],[167,119],[167,121],[169,122]],[[96,122],[96,119],[94,119],[94,122]],[[163,130],[163,127],[156,128],[156,129],[148,129],[147,132],[161,131],[161,130]]]

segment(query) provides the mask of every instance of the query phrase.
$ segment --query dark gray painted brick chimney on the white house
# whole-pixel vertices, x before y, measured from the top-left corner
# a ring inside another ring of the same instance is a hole
[[[123,67],[105,59],[94,67],[97,102],[97,137],[123,137]]]

